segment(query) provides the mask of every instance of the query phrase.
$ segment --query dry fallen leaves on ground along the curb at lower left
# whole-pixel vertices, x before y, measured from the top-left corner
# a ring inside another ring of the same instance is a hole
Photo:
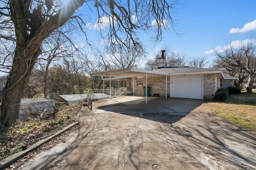
[[[6,129],[0,134],[0,160],[8,157],[15,147],[30,147],[34,143],[56,133],[63,127],[78,121],[77,114],[81,107],[82,106],[80,104],[75,104],[73,106],[61,106],[58,108],[60,110],[58,112],[58,117],[40,120],[40,122],[36,117],[30,117],[27,121],[19,121],[14,125],[14,127]],[[59,123],[60,117],[63,120],[62,123]],[[42,145],[42,149],[46,150],[49,147],[55,146],[57,143],[65,142],[66,133],[52,139],[53,141],[51,141],[51,143],[48,142],[47,146]],[[32,153],[29,153],[28,155]],[[26,157],[27,156],[22,158],[22,160],[29,160]]]

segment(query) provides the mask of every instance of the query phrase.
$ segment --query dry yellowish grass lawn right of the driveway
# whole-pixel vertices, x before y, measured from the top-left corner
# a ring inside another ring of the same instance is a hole
[[[242,90],[227,102],[209,101],[208,105],[213,113],[256,131],[256,92]]]

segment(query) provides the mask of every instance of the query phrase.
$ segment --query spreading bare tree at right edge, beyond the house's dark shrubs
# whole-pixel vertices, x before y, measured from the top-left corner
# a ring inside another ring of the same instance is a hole
[[[233,41],[227,46],[225,51],[215,51],[216,56],[224,63],[228,64],[228,68],[244,74],[247,73],[247,92],[252,92],[252,85],[256,76],[256,43],[254,39],[246,39],[246,41]]]

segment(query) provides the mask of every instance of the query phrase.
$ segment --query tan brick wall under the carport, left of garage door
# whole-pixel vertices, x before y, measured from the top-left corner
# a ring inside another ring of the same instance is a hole
[[[144,95],[143,87],[146,86],[146,77],[142,78],[142,87],[137,85],[137,78],[134,78],[134,95]],[[153,96],[155,93],[165,97],[166,92],[166,76],[148,77],[148,87],[151,87],[150,94]],[[133,82],[131,84],[133,88]],[[133,92],[133,90],[132,90]],[[170,76],[167,76],[167,96],[170,97]]]

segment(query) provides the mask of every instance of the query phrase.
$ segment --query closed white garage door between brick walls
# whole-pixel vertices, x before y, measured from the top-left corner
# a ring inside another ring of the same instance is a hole
[[[171,77],[170,97],[203,99],[203,76]]]

